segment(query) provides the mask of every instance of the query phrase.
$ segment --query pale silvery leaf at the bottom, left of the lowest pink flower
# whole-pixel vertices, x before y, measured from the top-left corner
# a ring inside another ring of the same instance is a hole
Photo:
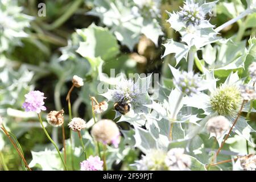
[[[60,156],[57,151],[45,150],[40,152],[31,151],[32,160],[29,167],[38,167],[43,171],[59,171],[63,169]]]

